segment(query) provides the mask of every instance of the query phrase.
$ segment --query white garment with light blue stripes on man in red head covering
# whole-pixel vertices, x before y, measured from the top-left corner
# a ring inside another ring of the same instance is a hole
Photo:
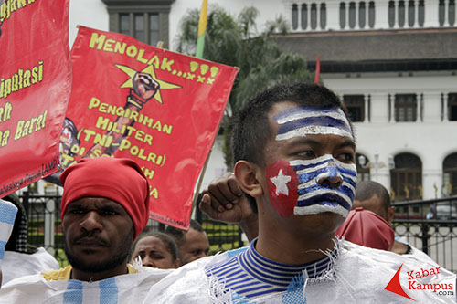
[[[46,280],[41,274],[16,278],[0,289],[0,303],[140,304],[148,290],[172,271],[150,267],[137,270],[94,282]]]

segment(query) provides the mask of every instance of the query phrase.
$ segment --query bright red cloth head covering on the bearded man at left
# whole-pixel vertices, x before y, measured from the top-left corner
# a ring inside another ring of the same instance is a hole
[[[149,183],[140,166],[126,158],[84,158],[61,175],[64,192],[62,212],[69,203],[81,197],[105,197],[121,204],[130,215],[135,238],[147,225],[149,215]]]

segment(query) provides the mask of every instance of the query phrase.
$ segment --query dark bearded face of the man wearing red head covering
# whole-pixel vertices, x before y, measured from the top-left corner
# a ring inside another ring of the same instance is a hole
[[[62,221],[65,253],[75,269],[101,272],[126,263],[133,223],[121,204],[84,197],[69,204]]]

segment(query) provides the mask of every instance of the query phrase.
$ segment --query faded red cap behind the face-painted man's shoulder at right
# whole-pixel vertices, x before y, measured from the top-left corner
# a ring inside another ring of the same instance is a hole
[[[335,233],[345,240],[370,248],[390,251],[395,241],[394,229],[381,216],[358,207],[349,212],[345,223]]]

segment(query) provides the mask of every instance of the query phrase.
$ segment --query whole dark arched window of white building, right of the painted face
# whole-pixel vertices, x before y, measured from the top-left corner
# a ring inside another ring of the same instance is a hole
[[[395,168],[390,171],[395,201],[417,200],[422,197],[422,162],[411,153],[394,157]]]

